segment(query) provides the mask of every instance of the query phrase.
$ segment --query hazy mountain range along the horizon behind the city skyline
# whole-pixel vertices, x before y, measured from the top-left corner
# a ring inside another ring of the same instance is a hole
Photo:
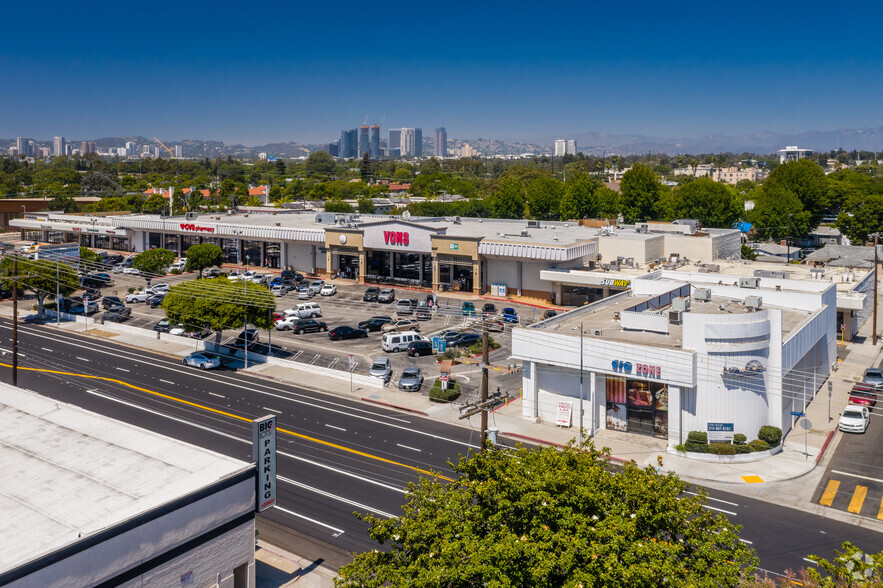
[[[883,126],[860,129],[837,129],[832,131],[807,131],[798,134],[764,131],[740,136],[709,134],[702,137],[652,137],[637,134],[615,134],[584,132],[559,136],[524,139],[448,139],[448,147],[462,147],[466,143],[480,145],[488,155],[518,155],[522,153],[550,154],[555,139],[575,139],[577,149],[587,155],[604,156],[610,154],[631,155],[640,153],[699,154],[699,153],[775,153],[787,145],[797,145],[814,151],[845,149],[847,151],[883,150]],[[86,139],[96,143],[99,149],[120,147],[126,141],[134,141],[139,146],[154,144],[146,137],[103,137]],[[40,145],[51,145],[50,140],[36,140]],[[70,140],[77,144],[81,139]],[[15,139],[0,139],[0,145],[14,145]],[[258,153],[273,154],[277,157],[303,157],[322,148],[321,144],[298,143],[295,141],[268,143],[248,147],[242,144],[227,144],[222,141],[185,139],[167,141],[167,145],[182,145],[186,157],[256,157]],[[424,137],[424,144],[431,145],[431,138]]]

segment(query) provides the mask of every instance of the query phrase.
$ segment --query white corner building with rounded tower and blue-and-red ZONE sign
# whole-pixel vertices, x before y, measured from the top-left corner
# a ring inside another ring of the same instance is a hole
[[[749,440],[763,425],[787,433],[836,362],[837,284],[756,277],[748,265],[741,276],[692,269],[565,272],[622,291],[513,330],[523,416],[572,413],[562,424],[577,427],[582,406],[589,434],[650,435],[672,448],[721,424]]]

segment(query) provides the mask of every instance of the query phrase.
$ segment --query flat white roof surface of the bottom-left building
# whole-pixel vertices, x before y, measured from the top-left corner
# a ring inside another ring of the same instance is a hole
[[[0,384],[0,573],[252,467]]]

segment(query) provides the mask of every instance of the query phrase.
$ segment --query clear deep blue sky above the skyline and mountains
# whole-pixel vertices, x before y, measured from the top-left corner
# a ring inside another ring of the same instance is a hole
[[[528,140],[883,125],[883,7],[787,4],[9,3],[0,137],[325,142],[366,115]]]

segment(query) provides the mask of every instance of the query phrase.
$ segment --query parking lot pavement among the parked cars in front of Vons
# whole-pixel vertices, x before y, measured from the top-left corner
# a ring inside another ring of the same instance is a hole
[[[186,280],[195,279],[193,274],[184,274],[180,276],[166,276],[162,279],[153,280],[153,284],[165,282],[172,286]],[[103,296],[118,296],[125,299],[130,287],[144,288],[146,282],[144,278],[136,275],[114,274],[114,283],[112,286],[102,289]],[[389,316],[396,317],[396,305],[393,303],[364,302],[362,295],[366,286],[359,286],[353,283],[347,283],[340,280],[333,282],[337,286],[337,294],[333,296],[315,296],[309,301],[299,300],[297,293],[292,291],[285,296],[276,298],[276,312],[283,313],[286,309],[295,307],[302,302],[315,302],[321,307],[322,316],[317,320],[324,322],[330,331],[334,327],[347,325],[356,327],[360,321],[372,316]],[[397,298],[412,298],[420,302],[424,302],[426,298],[425,292],[397,290]],[[476,333],[481,332],[481,326],[476,324],[476,319],[472,317],[464,317],[460,312],[461,304],[465,298],[454,298],[439,296],[437,298],[437,306],[432,312],[430,320],[419,321],[419,332],[427,338],[438,334],[445,330],[451,329],[472,329]],[[480,298],[471,299],[477,309],[481,309],[485,300]],[[511,306],[516,308],[519,319],[523,323],[530,323],[538,320],[542,316],[541,309],[535,309],[526,305],[518,305],[515,303],[501,303],[492,301],[496,305],[497,310],[501,310],[503,306]],[[150,308],[144,303],[132,303],[128,305],[132,309],[132,317],[125,322],[130,326],[136,326],[144,329],[152,329],[160,320],[165,318],[165,312],[162,308]],[[99,318],[100,315],[95,315]],[[413,315],[410,317],[413,318]],[[506,324],[502,332],[492,332],[491,336],[501,344],[501,347],[491,352],[490,360],[495,366],[504,369],[492,371],[491,391],[496,391],[497,387],[501,391],[511,394],[518,394],[521,387],[521,376],[518,373],[508,373],[509,353],[511,336],[509,329],[511,325]],[[241,329],[231,329],[222,333],[222,343],[232,343],[235,337],[241,332]],[[428,391],[432,380],[438,375],[438,363],[435,355],[427,355],[423,357],[408,357],[406,353],[385,353],[380,348],[380,331],[369,332],[365,339],[351,339],[344,341],[330,341],[328,333],[305,333],[294,334],[292,331],[277,331],[273,329],[270,332],[260,332],[260,344],[254,350],[265,355],[272,355],[280,359],[295,361],[308,365],[315,365],[323,368],[338,369],[349,371],[350,355],[353,356],[352,370],[354,373],[367,374],[372,359],[378,356],[389,357],[391,368],[393,370],[390,385],[396,385],[401,370],[407,366],[418,366],[423,372],[427,380],[423,388],[423,392]],[[199,343],[194,341],[194,347]],[[480,367],[477,361],[470,364],[461,364],[453,370],[454,376],[461,384],[461,389],[465,397],[477,394],[481,381]]]

